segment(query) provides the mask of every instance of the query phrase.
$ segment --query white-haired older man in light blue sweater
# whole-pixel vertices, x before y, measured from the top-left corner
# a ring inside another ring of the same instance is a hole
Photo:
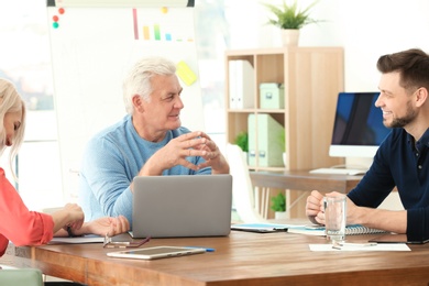
[[[84,155],[79,200],[86,219],[117,213],[132,226],[135,176],[229,173],[206,133],[182,127],[183,88],[175,72],[170,61],[148,57],[124,79],[129,114],[90,140]]]

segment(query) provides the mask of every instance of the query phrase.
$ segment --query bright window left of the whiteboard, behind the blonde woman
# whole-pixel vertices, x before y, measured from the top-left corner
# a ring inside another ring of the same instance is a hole
[[[25,205],[37,210],[63,206],[46,23],[45,1],[0,0],[0,77],[14,82],[28,108],[16,187]],[[1,167],[11,179],[9,164]]]

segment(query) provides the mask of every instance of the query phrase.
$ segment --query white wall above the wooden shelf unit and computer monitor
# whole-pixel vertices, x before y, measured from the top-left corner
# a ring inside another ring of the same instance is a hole
[[[231,23],[232,48],[280,46],[278,29],[264,24],[270,12],[261,1],[231,2],[229,13],[239,15]],[[301,7],[311,2],[298,0]],[[323,22],[301,29],[299,45],[342,46],[344,91],[377,90],[381,55],[411,47],[429,52],[428,12],[427,0],[319,0],[310,15]]]

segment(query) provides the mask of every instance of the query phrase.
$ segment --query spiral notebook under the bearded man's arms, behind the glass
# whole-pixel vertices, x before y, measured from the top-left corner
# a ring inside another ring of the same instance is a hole
[[[289,233],[300,233],[307,235],[326,235],[323,226],[289,226],[287,229]],[[372,229],[361,224],[350,224],[345,227],[345,235],[356,235],[356,234],[373,234],[373,233],[385,233],[384,230]]]

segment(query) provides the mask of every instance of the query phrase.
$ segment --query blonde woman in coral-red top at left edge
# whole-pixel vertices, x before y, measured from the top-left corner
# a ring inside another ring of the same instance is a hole
[[[24,129],[25,103],[13,85],[0,78],[0,155],[7,147],[11,148],[10,166],[22,144]],[[0,167],[0,256],[4,254],[9,241],[15,245],[41,245],[50,242],[54,235],[87,233],[116,235],[130,229],[129,221],[122,216],[84,222],[84,212],[75,204],[67,204],[52,215],[31,211],[6,178],[2,167]]]

